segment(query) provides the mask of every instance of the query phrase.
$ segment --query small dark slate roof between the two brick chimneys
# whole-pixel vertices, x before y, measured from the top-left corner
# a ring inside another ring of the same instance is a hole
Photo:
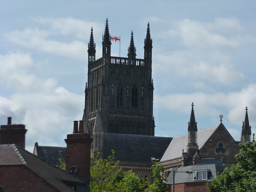
[[[39,146],[38,143],[35,143],[34,155],[39,157],[51,165],[60,165],[59,158],[62,162],[66,163],[66,147],[59,146]]]

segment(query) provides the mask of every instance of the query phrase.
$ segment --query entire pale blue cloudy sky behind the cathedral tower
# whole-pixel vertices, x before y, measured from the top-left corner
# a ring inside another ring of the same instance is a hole
[[[26,148],[65,146],[81,120],[87,46],[96,58],[108,17],[127,56],[131,31],[143,58],[147,22],[153,38],[157,136],[187,133],[194,102],[198,129],[219,116],[240,140],[248,106],[256,133],[255,1],[4,1],[0,0],[0,124],[26,124]],[[112,55],[119,43],[112,42]]]

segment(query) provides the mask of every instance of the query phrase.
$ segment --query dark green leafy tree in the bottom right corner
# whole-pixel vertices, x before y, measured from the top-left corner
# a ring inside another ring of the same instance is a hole
[[[210,192],[252,192],[256,189],[256,142],[239,144],[238,163],[207,183]]]

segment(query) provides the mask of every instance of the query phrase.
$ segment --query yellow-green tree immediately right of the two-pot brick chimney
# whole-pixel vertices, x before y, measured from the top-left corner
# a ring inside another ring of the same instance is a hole
[[[91,158],[90,187],[92,192],[116,191],[116,182],[121,168],[117,167],[119,161],[115,161],[114,156],[115,152],[112,150],[112,155],[106,159],[101,159],[100,153],[96,158]]]

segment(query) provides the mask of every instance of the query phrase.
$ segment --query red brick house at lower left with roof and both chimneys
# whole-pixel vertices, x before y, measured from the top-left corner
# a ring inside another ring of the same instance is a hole
[[[80,125],[78,131],[76,121],[73,134],[66,139],[67,170],[73,167],[68,173],[26,151],[25,125],[12,125],[8,118],[0,130],[0,191],[90,191],[92,139],[83,132],[83,121]]]

